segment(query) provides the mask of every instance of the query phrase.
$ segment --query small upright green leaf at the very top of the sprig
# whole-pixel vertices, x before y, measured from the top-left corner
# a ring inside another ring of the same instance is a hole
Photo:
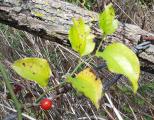
[[[105,35],[110,35],[118,28],[118,20],[115,19],[113,5],[105,6],[105,10],[99,16],[99,27]]]

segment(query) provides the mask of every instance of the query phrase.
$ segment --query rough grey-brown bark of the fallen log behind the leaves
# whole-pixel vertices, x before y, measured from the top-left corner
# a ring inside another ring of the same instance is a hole
[[[82,17],[96,35],[101,38],[98,29],[98,14],[60,0],[0,0],[0,22],[41,38],[60,44],[68,43],[68,29],[72,18]],[[141,35],[154,36],[132,24],[120,23],[115,34],[108,38],[135,46]],[[139,57],[154,63],[154,45],[139,54]]]

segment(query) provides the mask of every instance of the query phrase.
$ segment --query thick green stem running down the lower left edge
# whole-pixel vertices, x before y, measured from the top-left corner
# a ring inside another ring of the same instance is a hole
[[[9,75],[6,72],[5,67],[3,66],[3,64],[0,62],[0,72],[4,78],[4,82],[6,84],[6,87],[11,95],[12,100],[14,101],[15,104],[15,108],[17,109],[17,114],[18,114],[18,120],[22,120],[22,112],[21,112],[21,104],[20,102],[17,100],[15,93],[13,92],[13,88],[10,84],[10,78]]]

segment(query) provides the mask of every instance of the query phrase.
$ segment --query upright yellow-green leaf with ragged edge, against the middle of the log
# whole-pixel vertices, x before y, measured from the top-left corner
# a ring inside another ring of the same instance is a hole
[[[90,33],[90,27],[81,18],[79,20],[73,19],[73,23],[73,26],[69,30],[69,41],[72,48],[80,56],[90,54],[95,48],[95,43],[93,42],[95,36]]]

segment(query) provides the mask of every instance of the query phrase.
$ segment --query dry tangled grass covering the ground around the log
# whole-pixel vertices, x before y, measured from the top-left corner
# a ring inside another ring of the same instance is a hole
[[[114,4],[117,7],[118,17],[123,20],[123,22],[135,22],[137,25],[140,24],[142,19],[140,19],[136,14],[139,14],[139,10],[135,10],[131,5],[125,6],[123,8],[122,2],[115,1]],[[129,2],[128,2],[129,3]],[[134,5],[134,3],[132,3]],[[99,7],[96,6],[96,1],[93,2],[89,9],[95,9],[99,11]],[[126,4],[125,4],[126,5]],[[135,4],[136,5],[136,4]],[[138,6],[137,4],[136,6]],[[145,6],[143,6],[145,7]],[[121,10],[122,9],[122,10]],[[152,8],[145,8],[147,14],[151,14]],[[144,9],[142,9],[144,10]],[[136,12],[136,13],[135,13]],[[127,14],[127,15],[126,15]],[[147,15],[146,14],[146,15]],[[152,12],[153,14],[153,12]],[[141,15],[141,14],[139,14]],[[131,17],[131,19],[129,17]],[[125,18],[126,17],[126,18]],[[147,16],[142,16],[147,21]],[[150,21],[145,23],[145,29],[148,31],[153,31],[153,25]],[[151,27],[149,27],[151,26]],[[32,36],[26,32],[10,28],[5,25],[0,25],[0,58],[1,61],[7,66],[7,70],[12,79],[12,86],[16,83],[20,84],[23,89],[17,94],[18,100],[23,104],[23,113],[29,115],[29,119],[37,120],[116,120],[117,115],[112,108],[112,104],[109,103],[107,96],[104,96],[101,100],[101,108],[96,110],[96,108],[91,104],[91,102],[75,92],[74,89],[70,89],[67,93],[54,99],[53,109],[45,112],[39,109],[38,106],[29,107],[29,104],[33,103],[40,94],[42,94],[46,89],[40,88],[37,84],[25,81],[14,73],[14,71],[9,68],[6,61],[13,62],[19,58],[23,57],[43,57],[47,59],[50,63],[52,71],[54,73],[55,79],[50,80],[48,87],[53,87],[64,80],[64,75],[70,73],[77,65],[78,55],[73,52],[70,48],[61,46],[57,43],[42,40],[38,37]],[[83,59],[85,65],[95,66],[99,64],[100,60],[96,58]],[[82,69],[80,68],[80,69]],[[101,78],[105,80],[110,80],[114,77],[113,74],[108,72],[106,69],[100,71]],[[113,102],[113,105],[117,108],[120,116],[125,120],[153,120],[154,119],[154,74],[142,72],[140,79],[140,89],[136,95],[132,94],[130,85],[127,84],[126,78],[122,78],[118,81],[116,85],[107,91],[107,95]],[[46,97],[53,97],[53,92],[50,92]],[[9,92],[6,89],[3,78],[0,74],[0,120],[12,120],[16,118],[16,114],[13,111],[14,105],[13,101],[10,99]],[[28,119],[28,118],[26,118]]]

